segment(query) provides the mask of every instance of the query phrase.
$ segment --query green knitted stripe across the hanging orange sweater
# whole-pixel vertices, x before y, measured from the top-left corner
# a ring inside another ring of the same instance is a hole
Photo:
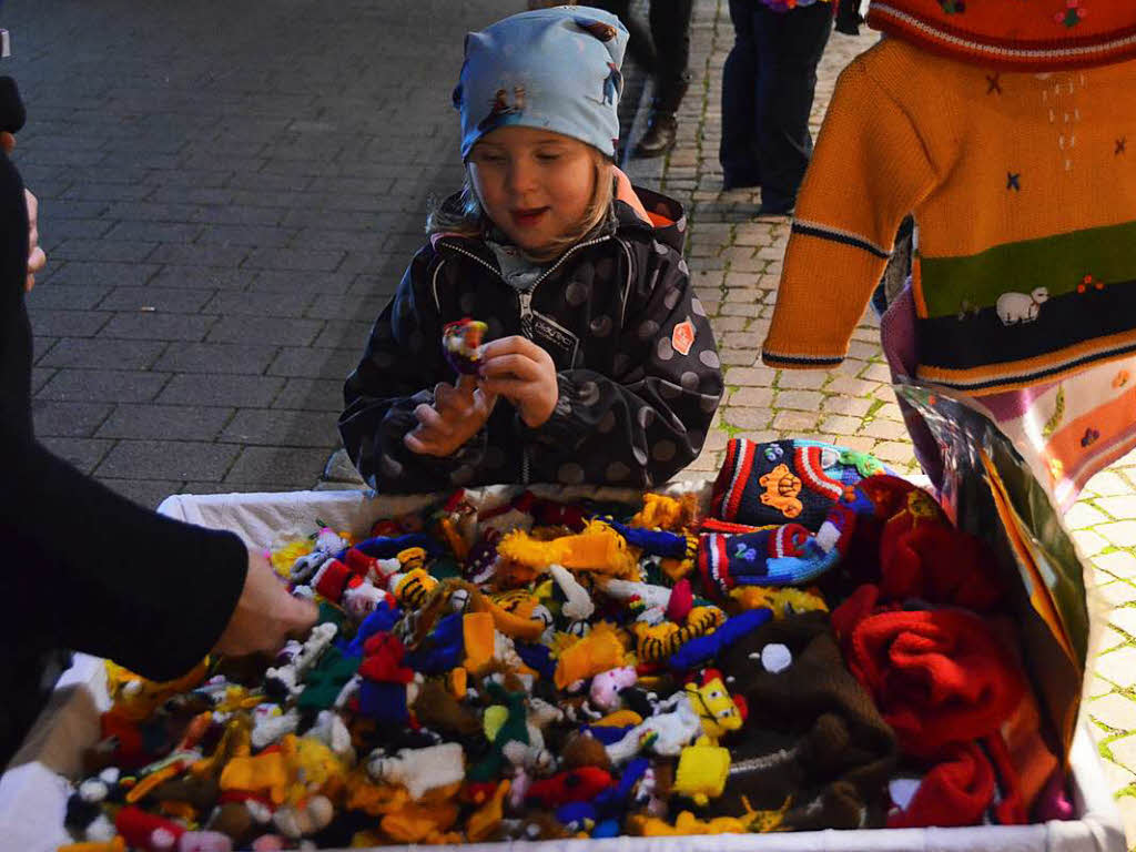
[[[929,317],[945,317],[967,309],[994,308],[1003,293],[1029,294],[1037,287],[1045,287],[1052,299],[1077,292],[1086,275],[1105,286],[1133,281],[1134,245],[1136,222],[1129,222],[1004,243],[966,257],[920,256],[927,312]]]

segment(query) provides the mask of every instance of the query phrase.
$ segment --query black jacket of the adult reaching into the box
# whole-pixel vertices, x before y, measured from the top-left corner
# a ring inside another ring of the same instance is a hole
[[[219,637],[248,565],[235,535],[147,511],[36,443],[27,249],[24,185],[0,153],[0,768],[61,649],[182,675]]]

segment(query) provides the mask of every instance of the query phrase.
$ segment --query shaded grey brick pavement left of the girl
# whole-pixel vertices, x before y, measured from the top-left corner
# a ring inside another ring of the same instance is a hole
[[[147,506],[311,487],[426,198],[460,185],[465,33],[519,6],[6,3],[42,440]]]

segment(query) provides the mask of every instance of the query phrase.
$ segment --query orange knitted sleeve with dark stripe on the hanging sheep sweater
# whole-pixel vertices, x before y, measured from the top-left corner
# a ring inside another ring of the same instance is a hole
[[[871,59],[845,68],[825,115],[762,346],[770,367],[844,360],[900,223],[937,181],[911,116],[869,73]]]

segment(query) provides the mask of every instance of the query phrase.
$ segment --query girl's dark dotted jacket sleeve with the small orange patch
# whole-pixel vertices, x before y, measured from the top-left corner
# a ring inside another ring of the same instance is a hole
[[[650,487],[702,450],[722,392],[713,332],[682,256],[658,241],[638,248],[612,375],[558,374],[534,482]]]

